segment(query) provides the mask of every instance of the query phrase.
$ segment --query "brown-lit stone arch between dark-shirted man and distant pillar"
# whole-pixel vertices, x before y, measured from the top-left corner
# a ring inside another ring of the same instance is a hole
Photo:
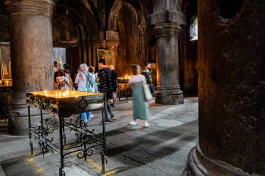
[[[125,19],[126,16],[126,19]],[[108,31],[119,32],[116,70],[130,74],[130,64],[143,65],[147,57],[147,24],[140,1],[116,0],[109,13]]]

